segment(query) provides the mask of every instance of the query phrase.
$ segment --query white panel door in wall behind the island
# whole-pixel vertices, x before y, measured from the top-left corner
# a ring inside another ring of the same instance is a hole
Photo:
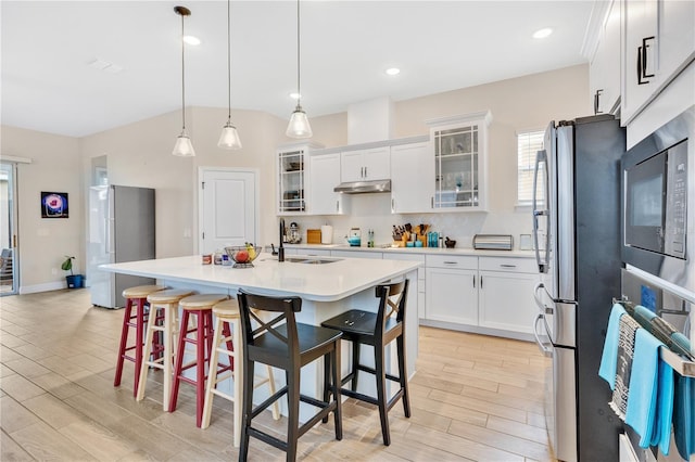
[[[201,169],[199,252],[257,244],[256,172]]]

